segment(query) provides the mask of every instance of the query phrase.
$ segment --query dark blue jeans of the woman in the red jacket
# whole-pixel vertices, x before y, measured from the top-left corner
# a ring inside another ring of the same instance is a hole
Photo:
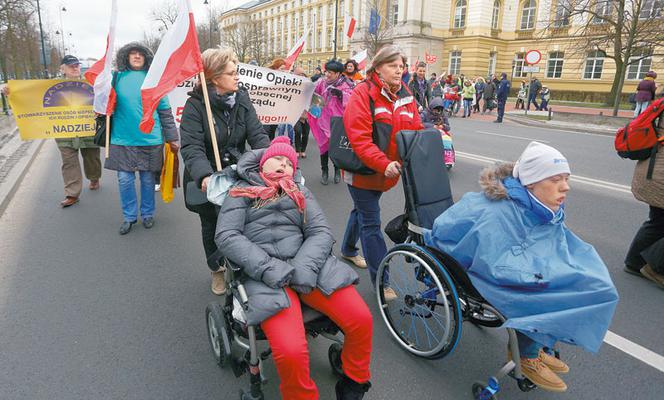
[[[378,266],[387,254],[387,245],[380,231],[379,200],[383,192],[359,189],[350,185],[348,191],[353,199],[354,208],[348,216],[341,253],[346,256],[356,255],[356,244],[359,239],[373,285],[376,282]]]

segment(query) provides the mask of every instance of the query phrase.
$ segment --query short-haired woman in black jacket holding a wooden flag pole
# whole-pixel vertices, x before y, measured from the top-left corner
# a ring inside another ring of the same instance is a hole
[[[247,143],[252,149],[262,149],[270,145],[270,139],[258,120],[247,90],[238,85],[238,60],[233,51],[207,49],[202,57],[218,150],[222,167],[227,167],[237,163]],[[185,206],[189,211],[197,213],[201,220],[203,248],[206,259],[209,259],[217,251],[214,232],[219,210],[207,199],[196,201],[194,195],[197,193],[188,190],[194,187],[204,195],[210,175],[217,170],[203,97],[200,83],[189,92],[189,99],[182,112],[180,137],[185,165]],[[218,266],[211,265],[211,268],[216,271]],[[223,271],[212,272],[212,292],[216,295],[226,292]]]

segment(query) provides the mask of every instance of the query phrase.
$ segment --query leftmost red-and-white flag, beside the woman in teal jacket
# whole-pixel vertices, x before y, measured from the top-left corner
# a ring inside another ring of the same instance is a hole
[[[110,115],[115,109],[115,89],[113,89],[113,53],[115,52],[115,26],[118,17],[117,0],[111,3],[111,26],[106,37],[106,53],[88,69],[84,76],[94,87],[93,110],[97,114]]]

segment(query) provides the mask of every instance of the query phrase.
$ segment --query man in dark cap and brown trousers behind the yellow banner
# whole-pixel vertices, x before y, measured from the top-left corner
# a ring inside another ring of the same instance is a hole
[[[65,79],[81,79],[81,62],[72,55],[66,55],[60,63],[60,73]],[[9,87],[4,86],[2,92],[9,95]],[[99,189],[101,178],[101,159],[99,147],[93,143],[93,137],[73,137],[55,139],[62,158],[62,180],[64,181],[65,198],[60,207],[67,208],[78,203],[83,190],[83,173],[78,153],[83,158],[83,171],[90,181],[90,190]]]

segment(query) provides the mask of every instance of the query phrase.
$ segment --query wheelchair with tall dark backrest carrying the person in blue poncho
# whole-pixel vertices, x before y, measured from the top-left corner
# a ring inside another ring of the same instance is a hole
[[[462,322],[500,327],[506,318],[489,304],[464,269],[449,255],[424,244],[423,229],[453,204],[442,160],[442,142],[436,130],[401,131],[397,148],[402,159],[405,214],[390,221],[385,232],[398,243],[383,258],[377,272],[376,294],[380,314],[393,339],[407,352],[427,359],[451,354],[459,343]],[[397,299],[386,301],[391,287]],[[516,332],[507,329],[512,354],[488,379],[472,385],[476,400],[496,399],[500,379],[509,375],[524,392],[536,386],[521,372]],[[556,357],[559,353],[555,350]]]

